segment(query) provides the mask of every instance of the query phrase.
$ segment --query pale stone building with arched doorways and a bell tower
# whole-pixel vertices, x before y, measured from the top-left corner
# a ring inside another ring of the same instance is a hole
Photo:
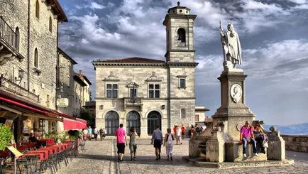
[[[147,137],[156,125],[165,131],[195,122],[193,24],[185,6],[167,11],[165,61],[148,58],[94,60],[96,124],[112,135],[123,123]]]

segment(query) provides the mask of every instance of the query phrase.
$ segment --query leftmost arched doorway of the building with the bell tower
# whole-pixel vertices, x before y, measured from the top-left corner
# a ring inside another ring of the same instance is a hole
[[[105,129],[107,131],[107,135],[113,136],[119,126],[119,114],[114,111],[107,112],[105,116]]]

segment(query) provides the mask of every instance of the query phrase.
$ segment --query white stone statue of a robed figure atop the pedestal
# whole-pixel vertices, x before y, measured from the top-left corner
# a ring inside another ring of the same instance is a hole
[[[241,43],[238,38],[238,33],[233,28],[232,23],[228,23],[227,31],[221,28],[220,22],[221,43],[224,50],[224,67],[235,68],[236,64],[242,64]]]

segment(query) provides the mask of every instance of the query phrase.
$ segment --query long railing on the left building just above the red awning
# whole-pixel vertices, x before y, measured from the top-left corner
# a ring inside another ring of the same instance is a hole
[[[23,99],[31,100],[31,102],[38,103],[38,95],[35,95],[32,92],[29,92],[27,89],[17,85],[16,83],[7,80],[3,77],[3,75],[0,76],[0,90],[14,94],[17,97],[21,97]]]

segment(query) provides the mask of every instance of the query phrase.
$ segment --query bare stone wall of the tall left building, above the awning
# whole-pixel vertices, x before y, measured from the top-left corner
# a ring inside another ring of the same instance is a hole
[[[37,4],[39,17],[35,16]],[[38,104],[55,109],[57,23],[62,20],[58,20],[54,9],[45,1],[31,0],[30,4],[28,0],[1,1],[0,11],[6,23],[14,32],[19,33],[18,38],[15,38],[16,49],[23,56],[22,61],[16,58],[5,62],[1,65],[0,73],[38,95]],[[36,66],[35,50],[38,53]],[[18,77],[18,70],[24,72],[22,79]]]

